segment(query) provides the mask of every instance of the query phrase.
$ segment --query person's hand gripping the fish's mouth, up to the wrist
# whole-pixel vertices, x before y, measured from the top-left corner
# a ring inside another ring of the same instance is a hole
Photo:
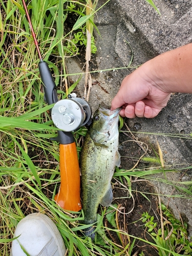
[[[161,81],[153,80],[148,62],[123,79],[112,101],[112,110],[123,106],[120,112],[122,117],[153,118],[167,104],[170,92],[162,89]]]

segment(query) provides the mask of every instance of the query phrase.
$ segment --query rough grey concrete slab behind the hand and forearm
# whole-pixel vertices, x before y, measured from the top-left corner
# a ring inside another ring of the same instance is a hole
[[[99,6],[106,1],[100,0]],[[93,111],[98,104],[111,105],[122,79],[134,68],[127,69],[133,57],[131,66],[136,67],[156,55],[172,50],[192,41],[192,1],[191,0],[158,0],[154,1],[161,15],[159,15],[144,0],[111,0],[95,17],[95,24],[100,35],[95,32],[97,54],[93,61],[97,70],[92,80],[98,81],[92,86],[90,104]],[[70,73],[81,73],[79,60],[69,59],[67,62]],[[100,70],[103,70],[100,72]],[[74,81],[77,77],[71,77]],[[78,85],[83,96],[84,79]],[[185,138],[192,131],[192,96],[174,94],[168,105],[154,119],[133,119],[127,123],[131,131],[135,131],[135,123],[139,123],[137,137],[147,135],[152,143],[158,140],[163,158],[167,165],[191,165],[192,141]],[[175,137],[153,135],[157,133],[175,134]],[[179,135],[179,137],[178,137]],[[191,181],[190,170],[187,173],[173,173],[168,180]],[[154,182],[154,185],[158,185]],[[161,194],[179,194],[172,186],[161,184]],[[183,198],[162,197],[174,214],[186,216],[188,223],[192,223],[192,204]],[[189,225],[192,235],[192,226]]]

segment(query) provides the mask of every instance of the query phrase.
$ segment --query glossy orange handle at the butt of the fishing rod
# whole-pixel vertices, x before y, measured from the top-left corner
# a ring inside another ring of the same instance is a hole
[[[80,170],[75,142],[60,144],[60,188],[55,196],[56,203],[65,210],[79,211]]]

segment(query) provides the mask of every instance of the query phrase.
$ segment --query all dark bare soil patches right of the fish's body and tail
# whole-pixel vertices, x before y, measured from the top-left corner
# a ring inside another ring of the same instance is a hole
[[[126,128],[126,127],[125,127]],[[124,129],[123,129],[124,130]],[[136,164],[138,159],[143,154],[143,150],[139,143],[134,141],[131,134],[120,133],[119,135],[119,153],[121,155],[121,168],[131,169]],[[138,168],[144,168],[146,163],[141,162],[137,165]],[[130,178],[131,179],[131,178]],[[130,214],[124,215],[118,213],[118,222],[120,229],[129,233],[130,236],[141,238],[150,242],[153,242],[153,239],[146,232],[144,224],[141,220],[141,215],[143,212],[148,212],[149,215],[154,216],[154,221],[159,223],[159,210],[158,210],[158,200],[155,196],[151,195],[153,191],[153,186],[140,178],[131,179],[131,195],[128,193],[125,187],[129,187],[127,181],[122,179],[123,185],[117,180],[112,180],[114,182],[114,201],[113,203],[117,204],[121,209],[121,212],[130,212]],[[124,187],[125,186],[125,187]],[[141,193],[140,193],[141,192]],[[143,196],[142,193],[146,193]],[[127,198],[129,197],[129,198]],[[109,236],[115,243],[119,243],[119,238],[114,232],[109,232]],[[122,241],[125,238],[122,236]],[[133,241],[133,238],[131,238]],[[133,254],[138,255],[144,252],[145,255],[158,255],[157,251],[147,243],[136,240]]]

